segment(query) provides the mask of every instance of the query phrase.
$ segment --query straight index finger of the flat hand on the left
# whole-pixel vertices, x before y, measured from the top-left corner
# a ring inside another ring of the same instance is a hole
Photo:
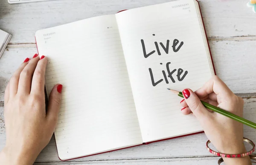
[[[44,93],[44,75],[47,65],[47,58],[42,55],[35,68],[35,72],[32,78],[31,93],[41,94]]]

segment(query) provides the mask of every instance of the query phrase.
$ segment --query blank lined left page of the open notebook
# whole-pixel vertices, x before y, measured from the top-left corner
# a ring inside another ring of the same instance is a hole
[[[40,30],[46,87],[63,84],[55,130],[60,159],[142,144],[115,15]]]

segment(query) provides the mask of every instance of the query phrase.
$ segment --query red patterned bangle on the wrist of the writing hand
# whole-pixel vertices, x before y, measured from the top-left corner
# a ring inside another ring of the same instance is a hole
[[[253,143],[253,141],[251,141],[251,140],[249,140],[247,138],[244,138],[244,142],[250,143],[250,145],[253,146],[253,149],[251,149],[247,153],[241,153],[241,154],[224,154],[224,153],[219,153],[219,152],[213,151],[212,149],[209,148],[209,144],[210,144],[209,140],[206,142],[206,148],[207,148],[207,150],[210,153],[212,153],[214,155],[217,155],[217,156],[227,157],[227,158],[239,158],[239,157],[248,156],[248,155],[252,154],[255,151],[255,144]]]

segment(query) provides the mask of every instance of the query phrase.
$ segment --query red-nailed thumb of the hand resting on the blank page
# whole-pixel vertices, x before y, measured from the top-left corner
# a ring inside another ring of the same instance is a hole
[[[57,124],[58,121],[58,111],[61,106],[61,91],[62,91],[62,85],[56,84],[50,93],[49,96],[49,104],[47,109],[47,119],[50,122],[51,126],[54,126]]]

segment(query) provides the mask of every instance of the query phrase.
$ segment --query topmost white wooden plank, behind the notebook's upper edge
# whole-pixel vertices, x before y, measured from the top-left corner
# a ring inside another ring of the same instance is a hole
[[[0,1],[0,29],[13,35],[10,43],[35,43],[39,29],[89,17],[115,14],[123,9],[172,0],[56,0],[9,5]],[[247,8],[248,0],[200,0],[208,37],[229,40],[234,36],[256,36],[256,15]],[[249,38],[248,38],[249,39]]]

